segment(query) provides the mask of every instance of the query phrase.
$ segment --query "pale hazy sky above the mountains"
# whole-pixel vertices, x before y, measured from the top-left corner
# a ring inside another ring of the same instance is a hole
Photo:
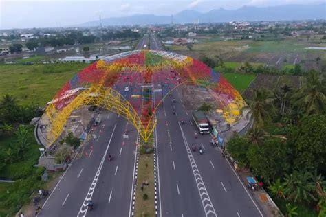
[[[171,15],[192,9],[236,9],[285,4],[316,4],[323,0],[0,0],[0,29],[63,27],[113,16]]]

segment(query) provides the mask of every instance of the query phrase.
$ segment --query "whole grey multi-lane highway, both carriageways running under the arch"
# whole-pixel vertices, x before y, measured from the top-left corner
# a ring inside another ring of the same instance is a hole
[[[151,49],[162,49],[155,34],[145,34],[136,48],[143,49],[148,42]],[[162,71],[158,76],[160,79],[153,79],[154,101],[167,95],[156,112],[158,216],[263,216],[219,148],[210,145],[211,136],[199,135],[195,139],[197,129],[191,111],[182,103],[181,89],[168,94],[177,84],[175,71]],[[140,73],[126,72],[120,75],[114,88],[135,109],[140,109],[139,99],[132,95],[141,94],[143,82]],[[173,98],[176,102],[172,102]],[[65,172],[39,216],[131,216],[135,144],[139,135],[115,113],[102,110],[96,115],[102,119],[91,131],[96,137],[87,142],[83,156],[73,161]],[[128,139],[123,137],[126,134]],[[192,144],[197,150],[202,146],[204,155],[193,152]],[[90,199],[94,210],[88,212]]]

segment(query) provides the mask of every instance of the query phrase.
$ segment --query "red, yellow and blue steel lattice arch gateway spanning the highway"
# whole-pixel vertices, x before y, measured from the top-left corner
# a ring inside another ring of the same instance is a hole
[[[173,87],[195,84],[210,89],[210,94],[221,105],[224,117],[230,123],[236,122],[241,108],[246,106],[239,92],[221,76],[203,62],[172,52],[135,50],[109,56],[80,71],[58,91],[46,109],[50,130],[47,139],[50,145],[63,132],[63,128],[72,111],[85,105],[102,106],[114,111],[131,122],[147,141],[153,133],[157,120],[155,108],[141,98],[127,100],[117,91],[123,84],[151,84],[167,82],[162,80],[164,73],[173,72],[177,79],[169,80]],[[164,77],[165,79],[165,77]],[[142,106],[140,106],[140,104]],[[155,105],[157,106],[157,104]],[[142,109],[140,109],[142,108]],[[151,109],[149,116],[149,109]]]

